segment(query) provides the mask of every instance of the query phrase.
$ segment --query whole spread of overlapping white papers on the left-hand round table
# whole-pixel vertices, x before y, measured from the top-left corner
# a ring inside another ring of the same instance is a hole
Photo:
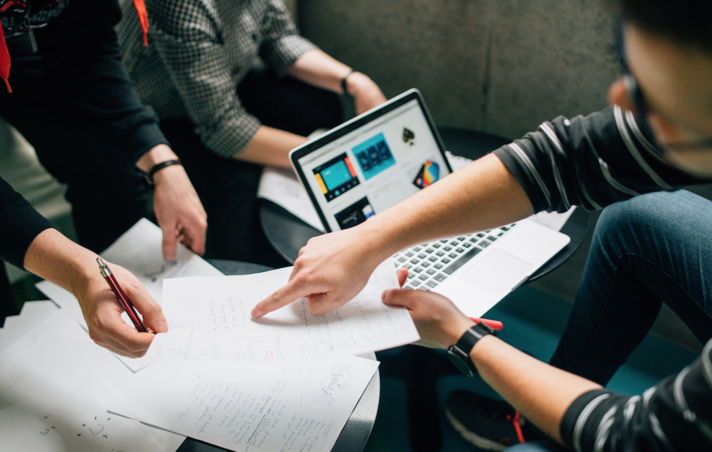
[[[328,315],[298,300],[254,321],[250,310],[290,268],[213,276],[185,248],[163,261],[161,242],[142,220],[102,253],[162,303],[169,332],[147,357],[117,359],[95,345],[75,298],[51,283],[38,287],[61,309],[26,303],[6,319],[0,437],[12,450],[172,452],[192,436],[234,451],[326,452],[378,367],[348,355],[419,339],[407,311],[380,301],[397,286],[391,261]]]

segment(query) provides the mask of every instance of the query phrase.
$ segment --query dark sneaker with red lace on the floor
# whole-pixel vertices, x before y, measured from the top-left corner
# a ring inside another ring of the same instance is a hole
[[[487,451],[524,442],[524,417],[506,401],[458,389],[447,397],[445,416],[465,441]]]

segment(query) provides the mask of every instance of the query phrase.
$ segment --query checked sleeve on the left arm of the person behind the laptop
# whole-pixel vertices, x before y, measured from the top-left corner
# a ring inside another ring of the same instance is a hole
[[[259,120],[241,105],[214,11],[198,1],[152,1],[155,46],[201,142],[221,157],[239,154]],[[161,83],[155,80],[155,83]]]

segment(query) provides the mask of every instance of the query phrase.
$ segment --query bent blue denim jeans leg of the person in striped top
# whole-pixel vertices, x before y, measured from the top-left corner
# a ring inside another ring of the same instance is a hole
[[[604,209],[550,364],[607,384],[662,303],[701,343],[712,337],[712,202],[689,191],[646,194]]]

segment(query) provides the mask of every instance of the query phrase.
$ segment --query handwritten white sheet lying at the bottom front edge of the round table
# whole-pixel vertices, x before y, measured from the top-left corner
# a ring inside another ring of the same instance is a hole
[[[378,362],[200,366],[169,361],[136,374],[109,411],[231,451],[330,451]],[[140,406],[140,409],[135,409]]]

